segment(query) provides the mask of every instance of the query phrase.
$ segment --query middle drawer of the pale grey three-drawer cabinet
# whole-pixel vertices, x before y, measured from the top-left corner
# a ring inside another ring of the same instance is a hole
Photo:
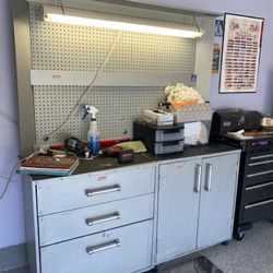
[[[153,218],[153,194],[39,217],[40,246]]]

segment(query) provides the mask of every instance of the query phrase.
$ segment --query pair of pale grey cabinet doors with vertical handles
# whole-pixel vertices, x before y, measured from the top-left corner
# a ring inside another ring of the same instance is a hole
[[[239,152],[159,165],[156,262],[232,238]]]

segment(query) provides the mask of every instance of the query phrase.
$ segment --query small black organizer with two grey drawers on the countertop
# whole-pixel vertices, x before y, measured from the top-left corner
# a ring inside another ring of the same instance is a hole
[[[133,123],[133,138],[141,140],[150,153],[170,154],[183,150],[183,126],[155,126],[145,121]]]

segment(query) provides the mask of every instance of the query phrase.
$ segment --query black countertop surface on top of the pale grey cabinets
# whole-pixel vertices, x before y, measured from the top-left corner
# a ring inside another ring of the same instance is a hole
[[[91,171],[106,170],[111,168],[120,168],[126,166],[133,166],[136,164],[152,163],[158,161],[179,159],[192,156],[210,155],[214,153],[224,153],[238,150],[236,147],[223,144],[223,143],[210,143],[205,145],[199,145],[193,147],[185,147],[183,152],[165,155],[153,155],[150,153],[134,154],[133,162],[118,163],[116,157],[96,156],[93,159],[81,159],[80,165],[74,170],[73,175],[80,175]],[[52,176],[32,176],[33,180],[52,178]]]

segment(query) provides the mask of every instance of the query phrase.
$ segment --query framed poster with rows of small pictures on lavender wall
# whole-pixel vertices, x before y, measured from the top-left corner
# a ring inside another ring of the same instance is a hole
[[[225,14],[219,93],[257,92],[263,19]]]

